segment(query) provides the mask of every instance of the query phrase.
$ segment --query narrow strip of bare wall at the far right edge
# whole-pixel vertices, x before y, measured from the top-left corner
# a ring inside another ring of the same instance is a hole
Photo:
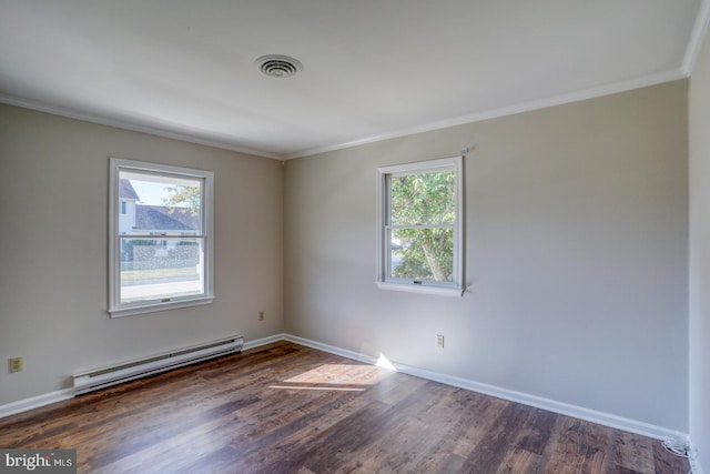
[[[690,438],[710,468],[710,34],[690,80]]]

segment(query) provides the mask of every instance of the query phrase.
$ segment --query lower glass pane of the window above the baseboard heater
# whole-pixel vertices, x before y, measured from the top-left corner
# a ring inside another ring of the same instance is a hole
[[[204,239],[121,239],[121,303],[203,294]]]

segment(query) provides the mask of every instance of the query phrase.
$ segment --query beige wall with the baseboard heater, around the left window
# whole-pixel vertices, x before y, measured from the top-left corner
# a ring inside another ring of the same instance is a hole
[[[213,304],[108,316],[109,155],[214,171]],[[0,370],[0,405],[78,371],[282,331],[281,162],[0,104],[0,360],[24,357]]]

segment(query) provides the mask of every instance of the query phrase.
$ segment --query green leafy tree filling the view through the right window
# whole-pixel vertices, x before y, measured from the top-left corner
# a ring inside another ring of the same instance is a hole
[[[456,219],[453,171],[394,177],[390,186],[393,250],[402,256],[393,276],[450,281]]]

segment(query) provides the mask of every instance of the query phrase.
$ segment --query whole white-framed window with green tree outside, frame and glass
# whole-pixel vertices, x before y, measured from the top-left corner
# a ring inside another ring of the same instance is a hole
[[[463,294],[463,158],[381,168],[377,175],[377,285]]]

